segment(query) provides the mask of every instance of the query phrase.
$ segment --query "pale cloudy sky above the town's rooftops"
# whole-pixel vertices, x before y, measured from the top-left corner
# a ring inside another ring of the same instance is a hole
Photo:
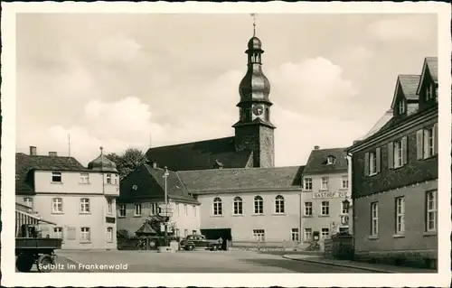
[[[233,135],[249,14],[17,15],[17,152],[81,163],[127,147]],[[433,14],[259,14],[277,166],[352,144],[398,74],[437,56]],[[152,135],[152,136],[151,136]],[[152,140],[151,140],[152,139]]]

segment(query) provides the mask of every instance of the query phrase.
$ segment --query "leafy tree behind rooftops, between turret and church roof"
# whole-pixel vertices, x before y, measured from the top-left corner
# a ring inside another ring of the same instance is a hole
[[[120,180],[124,179],[130,172],[138,166],[146,163],[146,155],[137,148],[128,148],[124,153],[109,153],[107,158],[117,164]]]

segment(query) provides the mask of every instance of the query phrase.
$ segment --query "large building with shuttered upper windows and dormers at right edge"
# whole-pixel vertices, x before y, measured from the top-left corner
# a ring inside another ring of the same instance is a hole
[[[438,259],[438,60],[400,75],[393,116],[348,148],[356,258]]]

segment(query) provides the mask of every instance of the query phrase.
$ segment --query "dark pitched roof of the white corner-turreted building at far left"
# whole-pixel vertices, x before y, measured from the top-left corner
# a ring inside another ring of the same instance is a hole
[[[33,170],[45,171],[86,171],[87,169],[73,157],[27,155],[15,153],[15,190],[33,192]]]

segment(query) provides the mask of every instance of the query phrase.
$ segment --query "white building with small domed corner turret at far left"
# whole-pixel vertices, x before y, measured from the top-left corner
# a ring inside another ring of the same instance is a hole
[[[116,164],[100,153],[84,167],[57,153],[16,153],[16,202],[55,225],[42,237],[61,237],[62,249],[116,249]]]

